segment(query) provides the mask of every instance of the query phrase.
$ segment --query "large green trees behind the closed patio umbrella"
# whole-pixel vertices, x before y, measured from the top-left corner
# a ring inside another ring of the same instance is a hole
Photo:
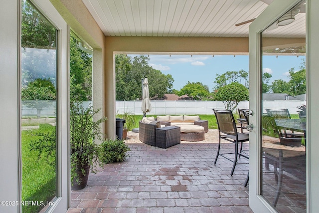
[[[145,55],[135,56],[133,59],[126,55],[115,56],[116,100],[136,100],[142,98],[142,80],[149,79],[150,97],[161,98],[171,92],[174,79],[170,74],[163,74],[160,70],[149,65],[150,58]]]

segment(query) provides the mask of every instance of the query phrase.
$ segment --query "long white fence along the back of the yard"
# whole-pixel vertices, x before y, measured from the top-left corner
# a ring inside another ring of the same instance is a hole
[[[91,101],[84,101],[88,106]],[[298,106],[306,104],[300,100],[263,101],[263,112],[268,109],[288,109],[291,114],[298,114]],[[212,109],[225,109],[221,101],[151,101],[152,115],[212,115]],[[135,115],[143,115],[142,101],[116,101],[116,113],[131,112]],[[239,102],[237,108],[248,109],[249,101]],[[55,101],[22,101],[22,117],[55,117]]]

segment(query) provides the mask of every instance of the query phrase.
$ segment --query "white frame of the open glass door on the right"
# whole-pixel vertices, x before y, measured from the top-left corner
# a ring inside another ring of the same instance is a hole
[[[261,188],[261,35],[271,23],[285,14],[289,9],[295,6],[301,0],[274,0],[249,26],[249,108],[254,111],[251,122],[255,126],[250,134],[249,143],[249,206],[254,212],[276,212],[273,207],[266,202],[260,195]],[[306,189],[307,189],[307,212],[315,212],[319,208],[319,170],[316,165],[319,164],[317,157],[319,143],[315,143],[319,138],[319,41],[316,39],[319,35],[318,27],[318,9],[319,2],[316,0],[306,0],[306,72],[307,72],[307,147],[306,147]],[[311,6],[310,6],[311,5]],[[310,45],[311,43],[311,45]],[[314,71],[312,71],[314,70]],[[317,71],[316,71],[317,70]],[[313,130],[313,131],[312,131]],[[311,143],[314,141],[314,143]],[[311,182],[311,180],[315,180]],[[314,201],[314,202],[312,202]]]

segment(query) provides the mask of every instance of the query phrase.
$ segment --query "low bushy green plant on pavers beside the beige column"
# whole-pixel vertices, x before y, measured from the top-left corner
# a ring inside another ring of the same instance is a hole
[[[130,148],[125,144],[123,140],[111,140],[104,141],[101,145],[100,160],[105,163],[123,162],[129,155],[127,152]]]

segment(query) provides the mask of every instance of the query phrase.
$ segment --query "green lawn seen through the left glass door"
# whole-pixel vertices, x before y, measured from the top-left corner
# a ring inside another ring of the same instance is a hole
[[[40,137],[36,133],[55,132],[55,127],[49,124],[40,124],[39,129],[22,131],[22,201],[51,201],[56,192],[55,161],[47,160],[45,153],[31,150],[31,141]],[[45,143],[45,142],[43,142]],[[54,152],[55,153],[55,152]],[[39,212],[43,206],[22,206],[23,213]]]

